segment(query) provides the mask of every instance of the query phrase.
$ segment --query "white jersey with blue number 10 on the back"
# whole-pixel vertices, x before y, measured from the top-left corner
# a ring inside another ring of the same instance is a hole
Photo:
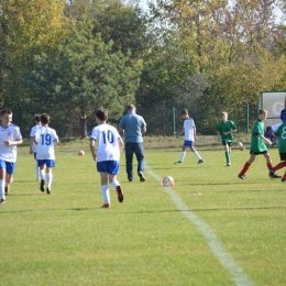
[[[100,124],[92,129],[90,140],[97,141],[97,162],[120,160],[118,130],[109,124]]]

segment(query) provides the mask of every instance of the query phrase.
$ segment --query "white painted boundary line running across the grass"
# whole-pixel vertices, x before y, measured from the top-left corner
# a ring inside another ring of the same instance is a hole
[[[162,186],[162,178],[157,176],[146,163],[145,163],[145,169]],[[252,282],[246,277],[243,270],[233,260],[231,254],[223,249],[213,230],[202,219],[200,219],[191,210],[189,210],[188,207],[179,197],[179,195],[176,194],[172,188],[164,187],[163,189],[165,190],[165,193],[167,193],[170,196],[173,202],[177,206],[177,209],[182,213],[184,213],[194,224],[198,227],[200,232],[206,238],[212,253],[218,257],[222,266],[230,273],[230,276],[234,282],[234,284],[238,286],[253,285]]]

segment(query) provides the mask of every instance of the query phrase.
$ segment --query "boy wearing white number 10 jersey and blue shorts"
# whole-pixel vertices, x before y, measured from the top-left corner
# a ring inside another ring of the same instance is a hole
[[[97,162],[97,170],[100,173],[101,178],[101,193],[105,200],[101,208],[111,207],[108,179],[117,191],[119,202],[122,202],[124,199],[123,191],[117,179],[120,153],[122,152],[124,143],[117,129],[107,124],[107,120],[108,111],[106,109],[98,109],[96,111],[98,125],[91,130],[89,144],[92,160]]]

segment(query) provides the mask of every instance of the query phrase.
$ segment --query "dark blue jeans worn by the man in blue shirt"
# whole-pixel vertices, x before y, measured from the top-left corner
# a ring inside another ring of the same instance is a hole
[[[133,153],[138,160],[138,173],[144,169],[144,150],[143,143],[125,143],[125,160],[127,160],[127,173],[128,179],[133,180]]]

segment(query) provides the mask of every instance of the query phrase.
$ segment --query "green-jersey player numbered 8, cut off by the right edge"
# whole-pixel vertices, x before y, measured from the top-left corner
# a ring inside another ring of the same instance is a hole
[[[274,132],[274,135],[279,139],[278,151],[282,162],[271,169],[271,178],[273,178],[277,169],[286,167],[286,122],[279,125],[279,128]],[[286,172],[284,173],[282,182],[286,182]]]

